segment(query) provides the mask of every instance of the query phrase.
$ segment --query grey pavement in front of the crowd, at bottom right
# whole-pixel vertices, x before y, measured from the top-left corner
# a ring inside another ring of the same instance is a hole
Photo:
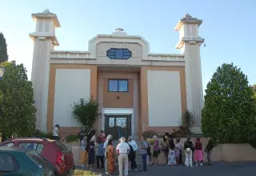
[[[129,176],[255,176],[256,162],[218,162],[213,166],[186,167],[180,166],[148,166],[147,173],[141,173],[142,166],[138,166],[137,171],[130,171]],[[102,172],[102,175],[106,175]],[[118,175],[116,172],[114,175]]]

